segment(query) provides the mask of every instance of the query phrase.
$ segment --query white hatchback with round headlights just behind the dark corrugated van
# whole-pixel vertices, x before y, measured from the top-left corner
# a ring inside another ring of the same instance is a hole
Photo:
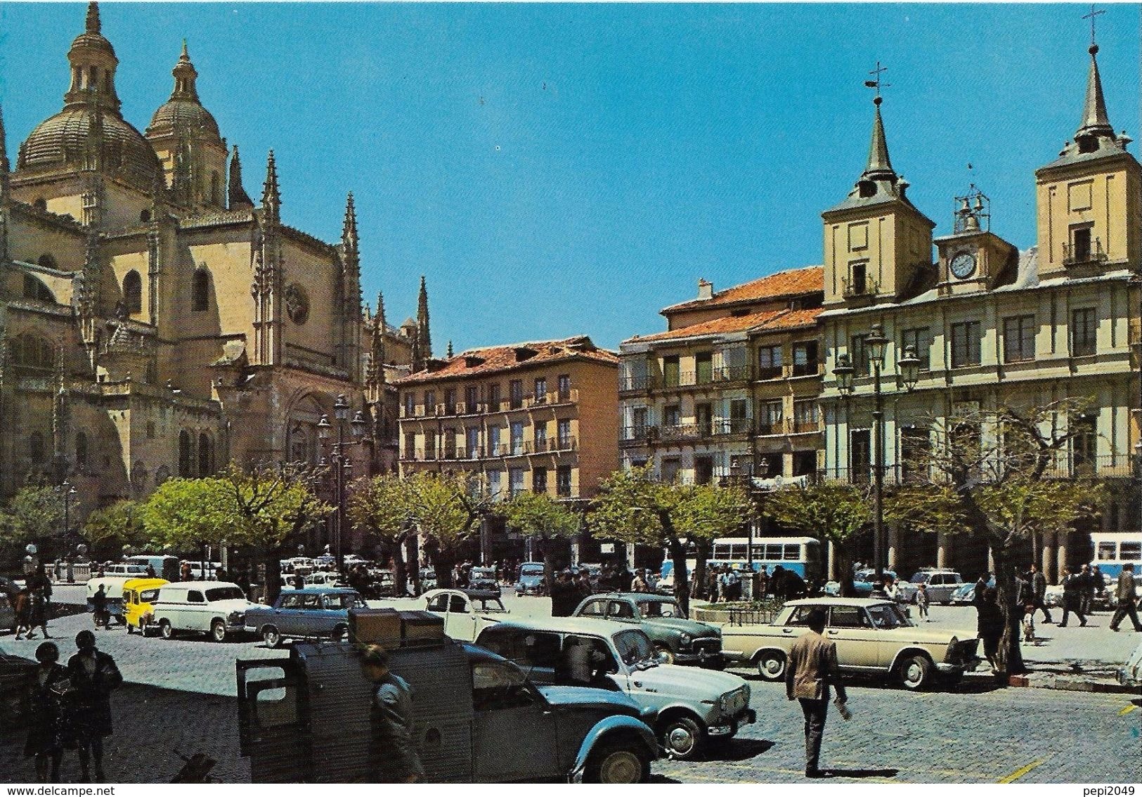
[[[569,637],[600,654],[596,681],[603,689],[618,689],[652,709],[659,741],[675,758],[694,758],[709,738],[730,739],[756,719],[745,679],[662,663],[645,631],[627,623],[592,618],[507,620],[480,631],[476,644],[510,659],[532,681],[550,684],[556,683]]]

